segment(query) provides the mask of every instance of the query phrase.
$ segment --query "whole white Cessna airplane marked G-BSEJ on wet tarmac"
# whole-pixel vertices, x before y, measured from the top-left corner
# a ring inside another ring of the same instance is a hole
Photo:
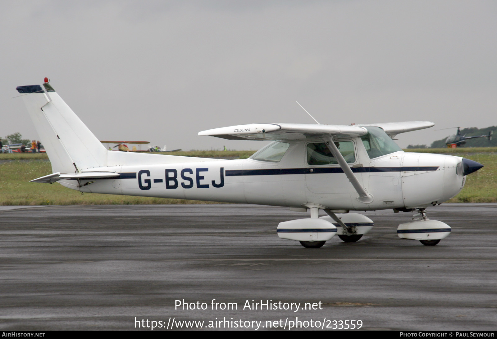
[[[425,208],[454,197],[483,165],[452,155],[406,153],[397,134],[431,122],[368,125],[249,124],[199,136],[273,141],[248,159],[220,160],[108,151],[55,92],[19,86],[53,173],[31,180],[80,192],[287,206],[310,218],[281,222],[280,238],[319,248],[335,234],[359,240],[373,227],[349,211],[414,211],[400,238],[436,245],[451,228]],[[328,215],[319,217],[323,209]]]

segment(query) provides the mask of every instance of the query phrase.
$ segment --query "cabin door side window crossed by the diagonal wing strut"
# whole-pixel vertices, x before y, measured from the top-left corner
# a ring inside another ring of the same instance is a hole
[[[352,141],[335,141],[335,145],[347,163],[355,162]],[[338,161],[324,142],[316,142],[307,144],[307,163],[309,165],[335,165]]]

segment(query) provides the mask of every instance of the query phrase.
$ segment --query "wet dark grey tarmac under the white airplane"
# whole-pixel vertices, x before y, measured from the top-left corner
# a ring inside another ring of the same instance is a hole
[[[224,329],[233,320],[260,331],[296,318],[307,329],[311,320],[324,329],[345,320],[361,330],[497,329],[497,204],[429,208],[452,227],[437,246],[398,238],[411,213],[363,213],[375,227],[359,242],[305,249],[279,239],[276,226],[308,214],[282,207],[3,207],[0,330],[151,330],[173,320]],[[252,300],[292,309],[252,309]],[[237,309],[213,310],[216,302]]]

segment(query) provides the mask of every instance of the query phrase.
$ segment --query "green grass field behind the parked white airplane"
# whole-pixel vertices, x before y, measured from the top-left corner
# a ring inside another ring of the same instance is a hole
[[[440,148],[439,153],[454,153],[478,161],[484,168],[467,176],[462,192],[451,203],[497,203],[497,148]],[[488,149],[494,149],[489,151]],[[409,149],[425,152],[432,149]],[[468,152],[471,151],[471,152]],[[200,157],[248,157],[254,151],[193,151],[167,154]],[[107,194],[81,193],[62,185],[29,183],[29,180],[52,173],[46,154],[0,154],[0,205],[72,205],[72,204],[177,204],[209,203],[193,200],[145,198]],[[30,161],[26,161],[30,160]]]

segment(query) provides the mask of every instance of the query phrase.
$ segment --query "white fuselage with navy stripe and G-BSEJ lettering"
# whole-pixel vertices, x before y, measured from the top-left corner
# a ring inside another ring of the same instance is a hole
[[[288,149],[274,162],[190,158],[192,162],[91,169],[120,176],[60,183],[90,193],[288,207],[317,203],[343,210],[428,206],[450,199],[464,185],[464,176],[456,173],[460,157],[397,151],[370,159],[361,139],[352,138],[345,140],[352,142],[355,155],[349,165],[374,197],[372,203],[361,203],[338,164],[309,164],[306,145],[318,141],[286,141]],[[161,155],[154,157],[160,161]]]

